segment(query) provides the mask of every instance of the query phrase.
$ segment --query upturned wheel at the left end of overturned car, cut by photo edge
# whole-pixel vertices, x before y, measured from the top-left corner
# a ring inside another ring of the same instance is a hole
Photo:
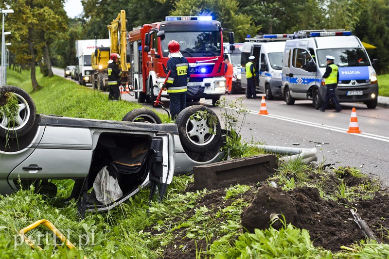
[[[33,99],[23,89],[6,85],[0,87],[0,106],[6,104],[6,93],[14,93],[18,99],[18,114],[7,116],[5,112],[0,113],[0,137],[16,138],[25,135],[34,125],[36,108]]]

